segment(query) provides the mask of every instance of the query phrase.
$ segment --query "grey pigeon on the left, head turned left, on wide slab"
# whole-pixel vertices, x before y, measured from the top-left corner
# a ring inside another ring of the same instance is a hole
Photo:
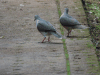
[[[46,39],[46,36],[48,36],[48,42],[50,42],[50,35],[54,35],[57,38],[62,39],[62,35],[56,31],[54,26],[49,21],[40,18],[39,15],[35,15],[34,18],[38,31],[44,36],[42,43]]]

